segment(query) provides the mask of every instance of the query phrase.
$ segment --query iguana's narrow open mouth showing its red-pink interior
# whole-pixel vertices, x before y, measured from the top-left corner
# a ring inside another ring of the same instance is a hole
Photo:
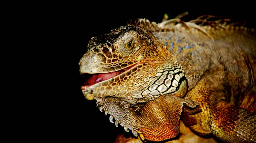
[[[121,69],[121,70],[115,71],[115,72],[99,73],[99,74],[83,74],[82,76],[83,76],[83,78],[85,78],[85,82],[82,84],[82,86],[91,86],[93,84],[111,79],[111,78],[116,77],[117,75],[122,74],[123,72],[131,69],[132,67],[136,66],[137,64],[134,64],[125,69]]]

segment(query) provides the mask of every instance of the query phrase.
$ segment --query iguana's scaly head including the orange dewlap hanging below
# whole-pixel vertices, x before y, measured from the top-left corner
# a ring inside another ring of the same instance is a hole
[[[81,86],[87,100],[97,100],[116,126],[160,141],[179,133],[183,107],[183,101],[172,105],[164,95],[183,97],[187,81],[182,66],[152,34],[155,30],[159,30],[155,23],[139,19],[93,37],[79,65],[80,73],[89,77]]]

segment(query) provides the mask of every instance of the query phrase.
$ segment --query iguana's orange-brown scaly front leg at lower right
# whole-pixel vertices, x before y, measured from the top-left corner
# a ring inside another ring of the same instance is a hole
[[[203,77],[188,93],[186,99],[200,103],[202,109],[201,113],[190,115],[198,123],[190,128],[198,134],[211,133],[231,143],[256,142],[256,115],[226,102],[224,93],[219,89],[207,77]]]

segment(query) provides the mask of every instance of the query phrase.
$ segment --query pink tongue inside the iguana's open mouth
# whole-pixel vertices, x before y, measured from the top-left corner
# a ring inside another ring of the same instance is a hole
[[[118,74],[120,74],[120,71],[105,73],[105,74],[95,74],[92,77],[90,77],[87,80],[87,82],[88,82],[88,85],[93,85],[95,83],[99,83],[101,81],[108,80],[112,77],[115,77]]]

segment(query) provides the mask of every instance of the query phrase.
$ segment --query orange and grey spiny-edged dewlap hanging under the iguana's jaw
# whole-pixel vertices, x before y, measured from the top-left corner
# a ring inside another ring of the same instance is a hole
[[[163,95],[139,107],[119,98],[106,98],[103,111],[111,114],[127,128],[143,134],[145,139],[162,141],[179,134],[180,115],[200,112],[199,104],[173,95]],[[185,108],[185,110],[183,110]],[[123,114],[119,114],[123,113]]]

